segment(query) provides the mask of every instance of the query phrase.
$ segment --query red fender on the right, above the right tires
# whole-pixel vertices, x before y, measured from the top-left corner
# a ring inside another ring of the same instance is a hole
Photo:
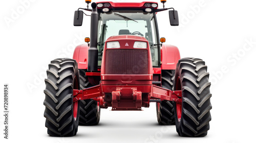
[[[161,69],[176,69],[180,60],[180,51],[177,46],[165,45],[161,47]]]

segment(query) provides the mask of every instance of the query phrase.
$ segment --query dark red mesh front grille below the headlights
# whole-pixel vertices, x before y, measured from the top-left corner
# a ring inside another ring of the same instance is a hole
[[[148,74],[147,50],[106,50],[106,74],[146,75]]]

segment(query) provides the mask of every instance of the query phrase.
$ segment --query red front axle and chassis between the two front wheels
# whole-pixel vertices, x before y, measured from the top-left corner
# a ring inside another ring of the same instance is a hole
[[[116,90],[112,91],[112,110],[141,110],[141,107],[149,107],[150,102],[161,101],[174,101],[176,103],[182,102],[182,91],[172,91],[156,85],[150,86],[151,92],[147,93],[146,106],[142,106],[142,92],[137,90],[136,85],[133,86],[120,86],[116,87]],[[108,87],[108,86],[107,86]],[[113,87],[112,87],[113,88]],[[120,102],[121,98],[123,99]],[[130,100],[129,100],[130,98]],[[132,99],[131,99],[132,98]],[[102,92],[102,85],[85,88],[83,90],[73,90],[73,101],[93,99],[99,102],[100,108],[108,108],[105,102],[105,93]],[[125,101],[125,99],[128,99]],[[132,103],[131,103],[132,102]],[[132,104],[132,106],[131,106]]]

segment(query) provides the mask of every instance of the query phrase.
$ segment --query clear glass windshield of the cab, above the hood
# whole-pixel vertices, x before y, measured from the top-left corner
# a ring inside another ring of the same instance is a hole
[[[158,66],[158,46],[154,13],[119,10],[100,13],[98,25],[98,65],[101,65],[105,40],[115,35],[138,35],[145,37],[150,43],[153,66]]]

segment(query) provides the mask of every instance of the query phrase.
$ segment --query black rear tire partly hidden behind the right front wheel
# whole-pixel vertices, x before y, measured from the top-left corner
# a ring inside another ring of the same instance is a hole
[[[175,70],[162,70],[162,87],[174,90]],[[159,125],[175,125],[174,102],[161,101],[156,103],[157,121]]]

